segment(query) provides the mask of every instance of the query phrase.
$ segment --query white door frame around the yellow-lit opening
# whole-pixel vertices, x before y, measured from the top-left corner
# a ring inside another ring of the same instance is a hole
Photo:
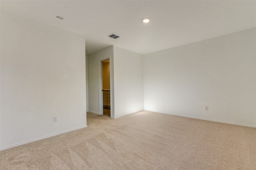
[[[111,56],[109,57],[104,57],[102,59],[99,59],[98,61],[98,70],[99,70],[99,114],[103,115],[103,92],[102,92],[102,61],[105,61],[109,59],[109,76],[110,76],[110,117],[114,118],[114,94],[113,92],[113,87],[112,82],[114,82],[114,80],[112,80],[112,78],[114,78],[114,76],[112,75],[112,64],[111,64]]]

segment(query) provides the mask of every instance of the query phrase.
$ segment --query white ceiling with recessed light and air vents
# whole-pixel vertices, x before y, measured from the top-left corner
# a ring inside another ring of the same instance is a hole
[[[0,7],[84,35],[86,54],[110,45],[147,54],[256,27],[256,1],[245,0],[1,0]]]

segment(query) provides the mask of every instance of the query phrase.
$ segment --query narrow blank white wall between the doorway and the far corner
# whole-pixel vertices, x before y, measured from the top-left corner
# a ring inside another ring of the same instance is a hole
[[[144,110],[142,55],[114,46],[115,118]]]

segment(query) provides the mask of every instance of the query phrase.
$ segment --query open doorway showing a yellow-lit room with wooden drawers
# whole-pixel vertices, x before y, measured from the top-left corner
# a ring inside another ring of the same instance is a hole
[[[101,61],[103,115],[110,116],[110,59]]]

